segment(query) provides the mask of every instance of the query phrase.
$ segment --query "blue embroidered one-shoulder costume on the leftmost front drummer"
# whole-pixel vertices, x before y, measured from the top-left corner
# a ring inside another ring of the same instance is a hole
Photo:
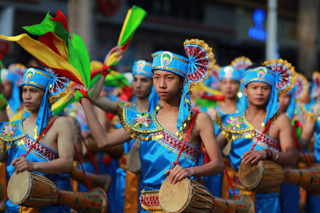
[[[9,180],[11,174],[14,172],[14,166],[11,166],[11,161],[20,157],[22,154],[25,154],[27,150],[29,150],[30,146],[34,143],[35,139],[27,134],[22,127],[23,120],[13,121],[10,124],[8,122],[1,122],[1,134],[0,139],[1,142],[6,143],[8,148],[8,159],[6,161],[6,177],[7,181]],[[10,138],[7,137],[7,130],[5,128],[8,126],[12,127],[13,134]],[[12,143],[11,143],[12,142]],[[52,148],[43,144],[42,142],[38,142],[34,148],[31,149],[29,154],[26,156],[26,159],[32,162],[48,162],[50,160],[54,160],[58,158],[58,153],[54,151]],[[39,173],[47,178],[49,178],[54,184],[64,190],[71,190],[70,179],[68,174],[44,174]],[[19,205],[14,205],[10,202],[10,200],[6,201],[6,211],[5,212],[19,212]],[[39,208],[39,212],[70,212],[68,207],[62,205],[50,205]]]

